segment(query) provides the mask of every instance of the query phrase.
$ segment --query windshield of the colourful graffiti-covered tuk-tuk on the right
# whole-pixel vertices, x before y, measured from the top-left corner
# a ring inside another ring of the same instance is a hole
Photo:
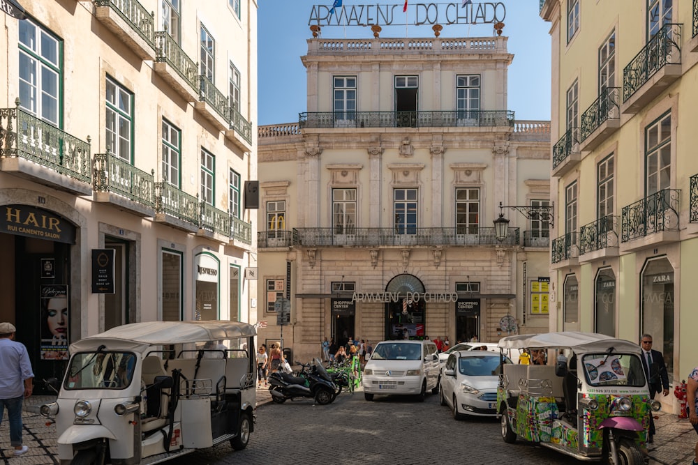
[[[582,358],[586,381],[591,386],[645,386],[638,356],[631,353],[588,353]]]

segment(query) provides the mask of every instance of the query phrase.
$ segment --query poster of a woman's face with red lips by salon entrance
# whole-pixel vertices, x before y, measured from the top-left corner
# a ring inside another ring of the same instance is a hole
[[[68,285],[45,284],[39,294],[41,359],[68,360]]]

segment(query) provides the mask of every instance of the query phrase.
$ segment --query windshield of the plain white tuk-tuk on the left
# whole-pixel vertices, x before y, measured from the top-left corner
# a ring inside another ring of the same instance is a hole
[[[125,389],[133,380],[135,354],[81,352],[70,358],[64,389]]]

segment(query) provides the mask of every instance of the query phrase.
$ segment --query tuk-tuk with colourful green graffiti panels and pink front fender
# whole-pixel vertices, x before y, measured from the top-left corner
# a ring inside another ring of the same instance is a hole
[[[563,349],[548,365],[504,365],[497,392],[502,437],[582,460],[644,464],[652,411],[639,345],[595,333],[503,337],[506,349]],[[555,361],[554,361],[555,360]]]

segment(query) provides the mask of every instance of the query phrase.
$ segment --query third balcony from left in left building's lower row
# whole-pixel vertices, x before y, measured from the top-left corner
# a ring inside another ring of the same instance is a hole
[[[199,230],[199,199],[163,181],[155,183],[155,220],[187,232]]]

